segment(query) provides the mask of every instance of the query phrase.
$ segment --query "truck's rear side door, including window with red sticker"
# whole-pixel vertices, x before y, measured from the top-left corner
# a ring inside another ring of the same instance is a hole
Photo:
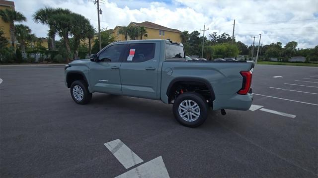
[[[158,99],[159,42],[129,44],[120,67],[123,95]]]

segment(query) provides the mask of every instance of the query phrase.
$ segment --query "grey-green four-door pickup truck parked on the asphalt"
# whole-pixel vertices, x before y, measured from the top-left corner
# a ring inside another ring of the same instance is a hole
[[[208,109],[248,110],[252,103],[249,61],[186,60],[183,45],[168,40],[112,43],[90,59],[65,66],[65,83],[77,104],[108,93],[173,104],[175,119],[196,127]]]

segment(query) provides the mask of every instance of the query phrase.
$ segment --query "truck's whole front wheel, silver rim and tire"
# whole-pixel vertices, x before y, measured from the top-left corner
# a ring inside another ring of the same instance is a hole
[[[76,80],[71,85],[71,96],[77,104],[87,104],[92,97],[89,93],[87,84],[83,80]]]

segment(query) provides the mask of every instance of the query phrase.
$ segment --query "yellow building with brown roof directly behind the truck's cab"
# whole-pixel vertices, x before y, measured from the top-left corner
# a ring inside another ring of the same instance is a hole
[[[130,22],[128,26],[144,26],[147,30],[147,37],[143,37],[143,39],[170,39],[171,41],[179,42],[181,43],[181,31],[177,29],[167,28],[161,25],[158,25],[156,23],[152,22]],[[113,31],[113,36],[116,41],[124,41],[125,35],[119,34],[119,30],[122,28],[122,26],[116,26]],[[130,40],[129,36],[128,39]]]

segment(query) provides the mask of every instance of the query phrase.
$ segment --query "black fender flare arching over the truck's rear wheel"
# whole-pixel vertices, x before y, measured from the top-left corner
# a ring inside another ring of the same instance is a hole
[[[211,85],[211,83],[204,79],[204,78],[197,78],[197,77],[178,77],[178,78],[175,78],[173,80],[171,80],[168,88],[167,88],[167,92],[166,92],[166,95],[169,97],[169,93],[170,93],[170,90],[172,88],[172,86],[176,83],[176,82],[180,82],[180,81],[191,81],[191,82],[201,82],[201,83],[204,83],[206,86],[208,86],[208,89],[211,93],[211,99],[212,101],[215,100],[215,94],[214,94],[214,90],[213,90],[213,87]]]

